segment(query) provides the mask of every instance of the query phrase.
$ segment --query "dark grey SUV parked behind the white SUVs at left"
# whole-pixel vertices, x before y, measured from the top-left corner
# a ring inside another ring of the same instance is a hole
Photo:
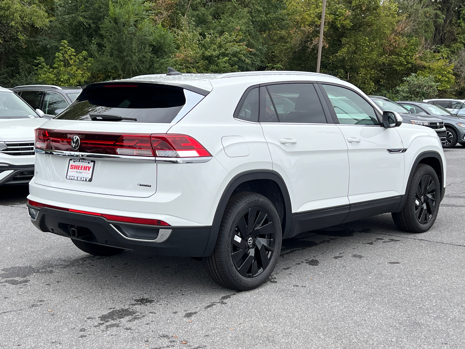
[[[79,96],[80,87],[54,85],[23,85],[11,89],[33,109],[40,109],[45,115],[55,116],[69,106]]]

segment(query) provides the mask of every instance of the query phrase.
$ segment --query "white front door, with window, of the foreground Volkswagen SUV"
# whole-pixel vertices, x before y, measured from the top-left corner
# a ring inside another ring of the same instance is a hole
[[[395,150],[403,148],[397,130],[382,127],[372,105],[357,92],[320,86],[348,147],[351,212],[353,204],[402,195],[404,154]]]

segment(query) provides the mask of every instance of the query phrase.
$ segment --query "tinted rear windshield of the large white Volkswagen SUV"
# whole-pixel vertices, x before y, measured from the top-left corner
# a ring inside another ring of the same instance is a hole
[[[55,119],[170,123],[185,104],[181,87],[97,85],[84,89]]]

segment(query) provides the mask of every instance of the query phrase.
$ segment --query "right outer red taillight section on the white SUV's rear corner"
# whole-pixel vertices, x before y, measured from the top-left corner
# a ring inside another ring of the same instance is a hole
[[[212,156],[198,141],[185,134],[152,134],[150,140],[156,156],[174,158]]]

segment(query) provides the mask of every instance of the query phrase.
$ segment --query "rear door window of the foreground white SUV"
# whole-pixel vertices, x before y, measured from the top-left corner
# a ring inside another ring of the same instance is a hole
[[[311,83],[278,84],[266,87],[279,122],[326,123],[325,113]],[[260,120],[261,121],[261,120]],[[265,121],[266,122],[266,121]]]

